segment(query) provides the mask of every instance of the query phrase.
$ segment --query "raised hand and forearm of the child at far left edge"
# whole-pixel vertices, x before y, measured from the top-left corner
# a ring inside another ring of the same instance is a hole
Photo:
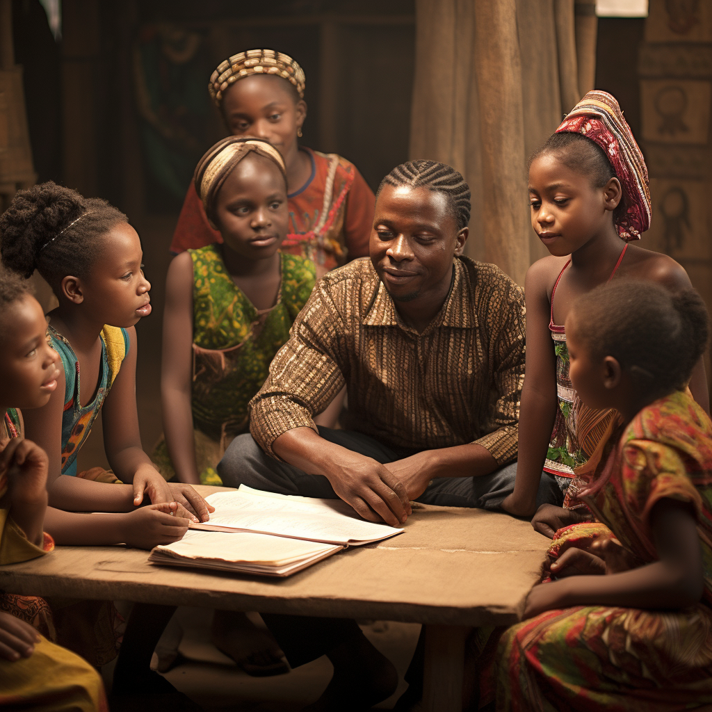
[[[43,543],[43,520],[47,508],[47,454],[24,438],[13,438],[0,452],[0,478],[7,478],[4,504],[27,540]]]

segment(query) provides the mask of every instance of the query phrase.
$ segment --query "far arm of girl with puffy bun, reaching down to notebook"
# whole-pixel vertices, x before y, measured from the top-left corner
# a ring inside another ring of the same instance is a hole
[[[104,402],[104,448],[116,476],[132,483],[134,504],[140,505],[146,493],[153,504],[177,501],[201,521],[209,519],[213,508],[192,486],[169,485],[153,466],[141,445],[136,409],[136,330],[127,330],[130,347],[111,390]]]

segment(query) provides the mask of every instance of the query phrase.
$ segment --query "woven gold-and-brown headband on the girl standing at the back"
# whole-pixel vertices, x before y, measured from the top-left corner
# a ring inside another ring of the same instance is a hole
[[[248,49],[221,62],[212,73],[208,91],[220,108],[225,90],[239,79],[251,74],[271,74],[293,84],[301,99],[304,98],[304,71],[288,54],[273,49]]]

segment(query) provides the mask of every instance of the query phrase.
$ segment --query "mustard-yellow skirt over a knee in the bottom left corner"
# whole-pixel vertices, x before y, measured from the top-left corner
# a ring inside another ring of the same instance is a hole
[[[0,708],[23,712],[108,712],[98,672],[78,655],[42,638],[33,654],[0,659]]]

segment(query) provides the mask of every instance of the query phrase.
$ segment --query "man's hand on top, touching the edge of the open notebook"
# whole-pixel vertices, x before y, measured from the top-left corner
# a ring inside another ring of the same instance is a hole
[[[364,519],[400,526],[412,512],[403,483],[370,457],[351,455],[326,474],[335,493]]]

